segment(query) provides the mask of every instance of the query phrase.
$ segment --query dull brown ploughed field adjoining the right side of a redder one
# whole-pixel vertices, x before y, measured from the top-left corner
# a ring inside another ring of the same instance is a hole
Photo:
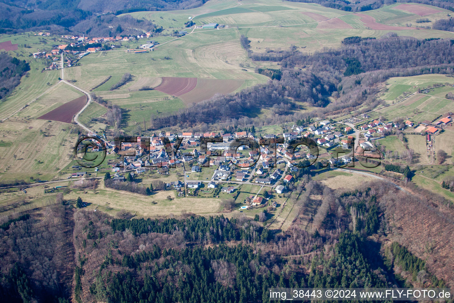
[[[215,94],[230,94],[244,83],[244,80],[197,79],[194,89],[179,98],[188,105],[210,99]]]

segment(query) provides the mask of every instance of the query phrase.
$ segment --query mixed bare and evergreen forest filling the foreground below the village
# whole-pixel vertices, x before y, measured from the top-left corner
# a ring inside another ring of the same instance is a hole
[[[268,302],[270,287],[449,286],[452,209],[388,183],[363,188],[333,191],[309,181],[296,202],[323,196],[312,228],[294,224],[279,235],[242,215],[115,219],[75,211],[60,196],[0,225],[0,295],[7,302],[233,303]]]

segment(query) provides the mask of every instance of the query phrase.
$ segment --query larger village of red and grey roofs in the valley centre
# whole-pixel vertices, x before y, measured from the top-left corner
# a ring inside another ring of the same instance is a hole
[[[232,197],[236,201],[241,194],[242,211],[276,204],[272,198],[290,193],[298,185],[303,187],[302,176],[310,170],[351,166],[364,157],[386,158],[376,142],[397,131],[424,135],[429,146],[431,137],[452,123],[450,114],[420,125],[410,120],[371,120],[368,114],[342,122],[315,119],[309,124],[289,125],[286,133],[263,136],[248,130],[233,134],[161,132],[124,140],[133,142],[109,142],[97,133],[89,136],[103,139],[107,153],[119,157],[120,161],[109,162],[109,173],[115,183],[141,179],[141,175],[147,174],[164,179],[176,174],[176,180],[164,182],[162,190],[176,190],[178,197]],[[92,151],[102,148],[97,142]],[[87,173],[75,172],[71,177],[84,174]],[[242,187],[251,186],[258,192],[245,195]]]

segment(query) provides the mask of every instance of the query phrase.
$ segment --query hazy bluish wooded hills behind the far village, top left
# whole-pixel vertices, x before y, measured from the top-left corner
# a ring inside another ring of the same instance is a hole
[[[92,36],[138,35],[143,30],[153,31],[153,23],[130,16],[116,17],[138,10],[182,10],[195,8],[205,0],[153,0],[153,1],[0,1],[2,33],[18,33],[28,30],[53,30],[59,34],[74,33]],[[135,10],[131,10],[135,9]],[[110,13],[110,14],[109,14]],[[114,26],[113,26],[114,25]],[[139,30],[140,29],[140,30]],[[162,28],[161,28],[162,30]]]

